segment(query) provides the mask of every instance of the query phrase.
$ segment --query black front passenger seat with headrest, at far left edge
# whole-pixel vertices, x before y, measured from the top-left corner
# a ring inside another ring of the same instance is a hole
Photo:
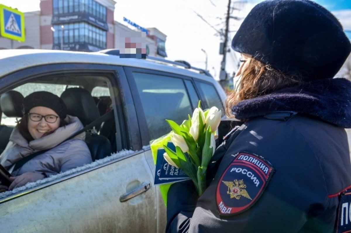
[[[21,106],[24,97],[18,91],[8,91],[0,96],[0,109],[8,117],[23,116]],[[1,125],[0,126],[0,153],[4,151],[14,126]]]

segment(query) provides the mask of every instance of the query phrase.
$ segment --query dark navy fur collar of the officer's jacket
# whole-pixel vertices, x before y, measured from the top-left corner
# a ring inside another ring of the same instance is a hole
[[[320,79],[243,100],[232,108],[237,119],[277,111],[309,114],[337,126],[351,128],[351,82],[343,78]]]

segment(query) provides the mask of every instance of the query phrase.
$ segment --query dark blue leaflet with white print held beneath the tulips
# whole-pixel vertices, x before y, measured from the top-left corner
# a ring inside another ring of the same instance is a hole
[[[176,147],[172,142],[168,142],[167,146],[173,151],[176,151]],[[173,167],[167,163],[167,161],[163,158],[163,154],[165,152],[166,151],[163,148],[159,148],[157,150],[154,185],[190,179],[180,168]]]

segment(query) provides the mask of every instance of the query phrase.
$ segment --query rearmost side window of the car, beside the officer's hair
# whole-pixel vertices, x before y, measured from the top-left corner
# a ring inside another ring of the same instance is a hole
[[[207,107],[210,108],[215,106],[223,112],[223,103],[216,91],[216,88],[211,84],[199,81],[196,81],[196,85],[204,96]]]

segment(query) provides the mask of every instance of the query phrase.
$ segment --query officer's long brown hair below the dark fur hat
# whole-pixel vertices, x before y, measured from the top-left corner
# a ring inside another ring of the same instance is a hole
[[[298,75],[289,76],[251,58],[246,69],[241,74],[237,88],[227,97],[225,113],[228,117],[234,117],[231,109],[240,101],[266,95],[285,87],[299,86],[302,77]]]

